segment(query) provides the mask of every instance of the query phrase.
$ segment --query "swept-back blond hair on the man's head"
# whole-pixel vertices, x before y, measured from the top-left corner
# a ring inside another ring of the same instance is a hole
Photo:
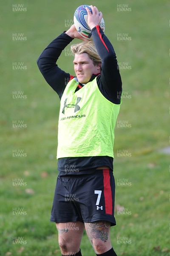
[[[87,53],[88,56],[91,58],[91,60],[93,61],[93,64],[96,65],[98,63],[102,63],[101,58],[96,50],[96,47],[94,45],[94,42],[92,41],[83,41],[80,44],[73,44],[71,45],[71,51],[73,52],[73,54],[75,55],[77,54],[81,54],[81,53]]]

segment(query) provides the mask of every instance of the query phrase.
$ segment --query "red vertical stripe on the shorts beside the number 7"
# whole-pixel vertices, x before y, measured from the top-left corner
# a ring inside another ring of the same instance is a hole
[[[109,169],[103,170],[103,183],[104,183],[104,197],[105,197],[105,211],[106,214],[112,215],[112,192],[110,183]]]

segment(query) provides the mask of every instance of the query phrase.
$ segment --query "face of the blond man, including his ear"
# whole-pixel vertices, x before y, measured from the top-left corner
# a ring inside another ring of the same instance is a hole
[[[81,84],[87,84],[92,74],[100,73],[100,65],[97,64],[95,66],[86,52],[81,54],[76,53],[73,63],[77,79]]]

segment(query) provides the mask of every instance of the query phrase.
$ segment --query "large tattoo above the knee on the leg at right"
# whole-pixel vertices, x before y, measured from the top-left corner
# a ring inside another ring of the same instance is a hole
[[[110,223],[108,221],[95,221],[85,223],[86,232],[90,240],[101,239],[106,242],[108,240]]]

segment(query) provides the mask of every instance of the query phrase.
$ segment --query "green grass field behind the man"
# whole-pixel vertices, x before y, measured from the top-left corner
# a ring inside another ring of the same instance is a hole
[[[1,3],[0,256],[61,255],[49,222],[58,174],[59,98],[36,61],[69,28],[81,4],[102,11],[123,81],[115,130],[113,247],[118,255],[169,256],[170,155],[159,151],[170,146],[168,0]],[[67,52],[59,66],[74,74]],[[81,250],[95,255],[86,234]]]

